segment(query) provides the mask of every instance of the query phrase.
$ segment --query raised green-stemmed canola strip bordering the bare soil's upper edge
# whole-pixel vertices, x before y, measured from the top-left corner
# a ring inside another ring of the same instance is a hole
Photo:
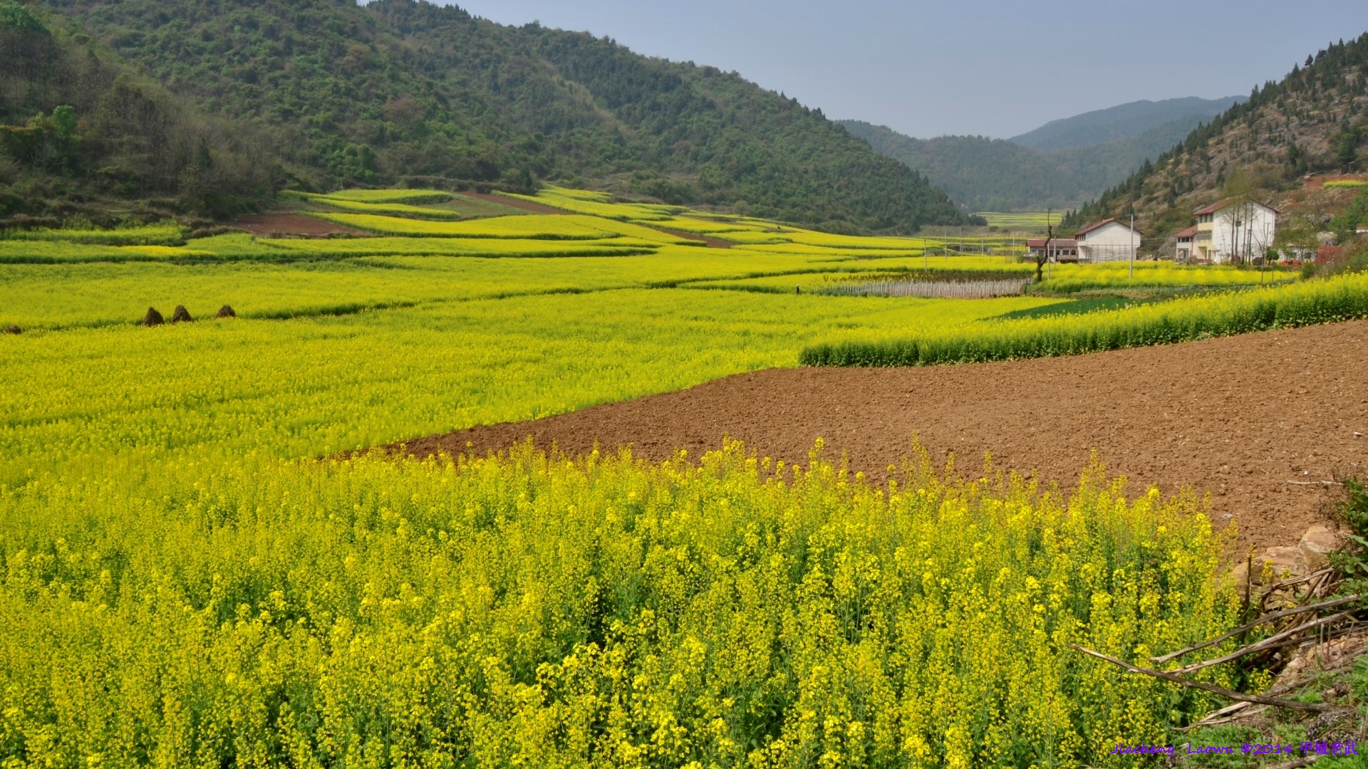
[[[1079,354],[1368,316],[1368,274],[1130,309],[992,322],[906,339],[803,350],[804,365],[929,365]]]

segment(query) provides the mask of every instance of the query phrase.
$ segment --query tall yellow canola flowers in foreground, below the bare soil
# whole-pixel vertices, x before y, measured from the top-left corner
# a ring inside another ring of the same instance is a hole
[[[1141,658],[1238,610],[1198,505],[1096,468],[1067,499],[735,443],[103,469],[3,493],[29,765],[1115,762],[1212,702],[1066,644]]]

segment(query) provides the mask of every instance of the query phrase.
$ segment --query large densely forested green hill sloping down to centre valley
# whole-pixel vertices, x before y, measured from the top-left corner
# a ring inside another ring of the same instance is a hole
[[[817,109],[586,33],[410,0],[30,8],[53,38],[89,36],[186,109],[260,131],[275,186],[557,181],[832,230],[966,222],[919,174]],[[60,104],[38,101],[30,107],[45,114]],[[205,159],[219,151],[197,146]]]

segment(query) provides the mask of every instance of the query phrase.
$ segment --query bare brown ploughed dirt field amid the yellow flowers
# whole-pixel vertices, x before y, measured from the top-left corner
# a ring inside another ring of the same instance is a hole
[[[662,460],[724,435],[762,456],[828,458],[882,480],[917,434],[977,472],[999,468],[1073,484],[1097,449],[1131,491],[1211,494],[1239,547],[1295,543],[1338,495],[1321,486],[1368,465],[1368,322],[1248,334],[1077,357],[925,368],[788,368],[740,374],[536,421],[406,442],[420,456],[483,454],[531,436],[566,453],[631,445]],[[1289,483],[1294,480],[1298,483]]]

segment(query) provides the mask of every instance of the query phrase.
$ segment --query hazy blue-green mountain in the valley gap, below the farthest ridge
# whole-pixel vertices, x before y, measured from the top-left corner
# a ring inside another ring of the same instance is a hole
[[[839,120],[852,135],[926,175],[971,211],[1073,208],[1124,181],[1202,120],[1179,118],[1134,137],[1040,152],[986,137],[919,140],[863,120]]]

